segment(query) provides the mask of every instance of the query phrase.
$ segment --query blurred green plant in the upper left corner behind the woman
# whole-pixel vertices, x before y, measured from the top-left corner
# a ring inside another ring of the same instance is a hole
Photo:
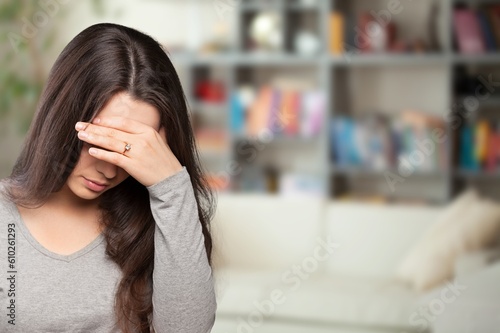
[[[91,5],[96,14],[104,13],[101,0]],[[0,0],[0,122],[8,121],[18,134],[29,128],[58,23],[69,7],[57,0]]]

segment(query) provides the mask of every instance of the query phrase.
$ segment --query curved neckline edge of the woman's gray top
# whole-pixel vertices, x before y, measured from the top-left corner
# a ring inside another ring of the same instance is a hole
[[[21,215],[21,212],[19,211],[19,208],[14,202],[10,202],[10,205],[12,206],[13,212],[16,215],[16,224],[19,226],[19,229],[25,236],[25,238],[28,240],[28,242],[39,252],[43,253],[44,255],[56,259],[56,260],[62,260],[66,262],[70,262],[72,260],[75,260],[76,258],[79,258],[83,256],[84,254],[92,251],[97,245],[101,244],[104,241],[104,234],[101,232],[93,241],[91,241],[89,244],[81,248],[80,250],[73,252],[71,254],[60,254],[56,252],[52,252],[49,249],[47,249],[45,246],[43,246],[32,234],[31,231],[28,229],[26,224],[24,223],[23,217]]]

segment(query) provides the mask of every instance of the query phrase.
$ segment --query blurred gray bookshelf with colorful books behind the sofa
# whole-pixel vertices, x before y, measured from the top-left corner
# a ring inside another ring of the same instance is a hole
[[[217,190],[500,199],[500,0],[394,3],[242,0],[230,47],[171,55]]]

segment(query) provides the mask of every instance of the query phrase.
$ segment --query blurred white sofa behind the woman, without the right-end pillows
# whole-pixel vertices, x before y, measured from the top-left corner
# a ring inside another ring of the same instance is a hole
[[[220,195],[213,224],[218,309],[212,332],[432,331],[442,322],[422,325],[418,309],[433,293],[418,295],[393,276],[440,212]]]

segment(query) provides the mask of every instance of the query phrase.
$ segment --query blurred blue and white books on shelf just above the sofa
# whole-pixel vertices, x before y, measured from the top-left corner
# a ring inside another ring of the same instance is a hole
[[[448,165],[446,126],[420,112],[399,116],[337,117],[331,121],[331,158],[336,167],[370,171],[443,171]]]

